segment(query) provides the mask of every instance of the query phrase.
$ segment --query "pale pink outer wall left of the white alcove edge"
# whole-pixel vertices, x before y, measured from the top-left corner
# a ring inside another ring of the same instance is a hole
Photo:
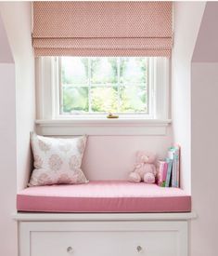
[[[0,254],[13,256],[17,255],[17,225],[11,218],[16,207],[15,66],[1,16],[0,34]]]

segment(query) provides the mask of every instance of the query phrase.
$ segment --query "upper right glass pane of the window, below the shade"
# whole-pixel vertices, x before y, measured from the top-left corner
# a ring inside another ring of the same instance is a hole
[[[147,59],[142,57],[121,58],[121,83],[146,83]],[[131,86],[131,84],[130,84]]]

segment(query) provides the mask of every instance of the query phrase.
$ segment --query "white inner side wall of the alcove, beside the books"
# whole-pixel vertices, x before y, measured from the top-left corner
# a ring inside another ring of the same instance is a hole
[[[181,184],[191,192],[191,58],[205,2],[174,2],[172,54],[173,141],[181,146]]]

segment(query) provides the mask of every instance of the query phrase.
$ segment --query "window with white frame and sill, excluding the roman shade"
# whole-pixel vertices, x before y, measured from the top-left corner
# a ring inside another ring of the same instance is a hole
[[[164,134],[170,122],[168,58],[40,57],[35,67],[47,134]]]

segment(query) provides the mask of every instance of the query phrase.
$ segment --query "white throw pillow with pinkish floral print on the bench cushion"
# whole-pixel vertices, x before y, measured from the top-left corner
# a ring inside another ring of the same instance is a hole
[[[81,169],[86,136],[59,139],[32,133],[31,142],[34,169],[29,186],[88,182]]]

